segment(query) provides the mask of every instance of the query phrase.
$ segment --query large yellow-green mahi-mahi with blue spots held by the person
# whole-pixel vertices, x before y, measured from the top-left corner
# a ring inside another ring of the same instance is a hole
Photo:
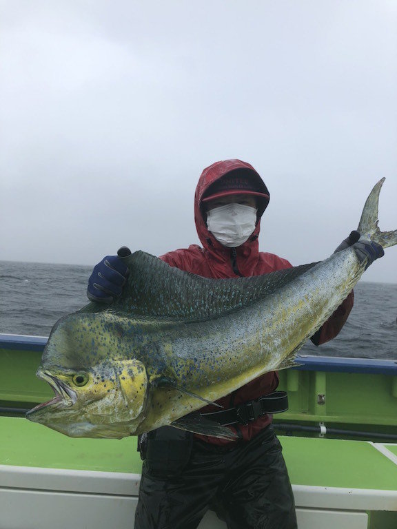
[[[378,229],[383,178],[358,225],[384,248]],[[172,424],[232,436],[192,413],[254,378],[292,365],[365,271],[354,247],[265,276],[205,279],[137,251],[121,298],[91,303],[54,325],[37,375],[55,397],[28,419],[71,437],[125,437]],[[187,416],[187,417],[185,417]]]

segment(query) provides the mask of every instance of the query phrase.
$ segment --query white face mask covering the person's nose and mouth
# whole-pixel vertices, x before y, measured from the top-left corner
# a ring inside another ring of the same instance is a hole
[[[256,225],[256,208],[231,203],[207,212],[207,228],[221,245],[235,248],[243,245]]]

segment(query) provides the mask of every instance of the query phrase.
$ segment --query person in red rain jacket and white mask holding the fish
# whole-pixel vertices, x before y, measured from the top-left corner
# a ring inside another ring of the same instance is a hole
[[[194,197],[194,219],[203,247],[191,245],[161,259],[205,278],[259,276],[292,267],[258,249],[261,216],[269,198],[265,183],[249,163],[223,160],[210,165],[201,174]],[[354,244],[360,262],[367,259],[367,267],[383,256],[380,245],[358,238],[360,234],[353,231],[336,251]],[[103,258],[90,276],[88,298],[112,302],[121,294],[127,275],[121,258]],[[353,302],[352,292],[311,338],[314,344],[338,335]],[[212,412],[221,424],[232,422],[236,439],[172,426],[140,437],[143,470],[135,529],[193,529],[208,508],[216,510],[229,529],[296,528],[294,496],[269,413],[278,411],[268,397],[277,386],[277,373],[265,373],[218,400],[223,408],[201,410]]]

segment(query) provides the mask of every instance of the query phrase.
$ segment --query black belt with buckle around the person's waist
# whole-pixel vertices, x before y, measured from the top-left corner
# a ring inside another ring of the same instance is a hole
[[[202,417],[216,421],[222,426],[230,424],[243,424],[247,426],[249,422],[254,422],[258,417],[267,413],[281,413],[288,409],[288,396],[285,391],[274,391],[256,400],[243,402],[235,408],[229,408],[222,411],[213,411],[211,413],[201,413]]]

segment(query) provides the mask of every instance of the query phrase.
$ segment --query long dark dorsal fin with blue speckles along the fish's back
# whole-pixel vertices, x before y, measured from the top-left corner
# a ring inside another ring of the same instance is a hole
[[[247,307],[316,264],[250,278],[207,279],[171,267],[143,251],[132,253],[125,263],[130,269],[128,282],[108,310],[181,320],[212,318]],[[100,311],[98,305],[91,304],[85,311]]]

